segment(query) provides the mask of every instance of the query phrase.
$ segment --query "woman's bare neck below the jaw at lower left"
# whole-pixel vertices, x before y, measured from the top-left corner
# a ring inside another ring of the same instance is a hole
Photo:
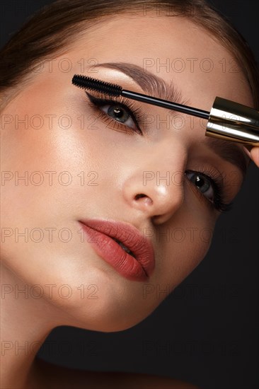
[[[1,291],[0,387],[28,388],[35,356],[50,331],[61,325],[62,315],[57,320],[57,308],[43,296],[37,298],[39,289],[32,289],[2,264]]]

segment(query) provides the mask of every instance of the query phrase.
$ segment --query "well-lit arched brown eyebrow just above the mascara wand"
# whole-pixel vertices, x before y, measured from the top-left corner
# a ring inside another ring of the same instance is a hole
[[[151,96],[185,105],[188,101],[188,99],[183,99],[182,94],[175,87],[173,81],[168,85],[159,76],[155,76],[150,71],[142,69],[141,66],[129,64],[127,62],[105,62],[103,64],[91,66],[91,68],[96,67],[105,67],[121,71],[133,79],[145,93],[148,93]]]

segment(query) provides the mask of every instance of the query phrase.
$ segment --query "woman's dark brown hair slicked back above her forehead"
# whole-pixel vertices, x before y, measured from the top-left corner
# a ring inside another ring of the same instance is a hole
[[[31,79],[32,69],[42,59],[62,53],[80,33],[103,18],[131,12],[189,18],[221,43],[236,59],[251,87],[259,109],[258,67],[243,37],[224,16],[205,0],[57,0],[45,6],[23,25],[0,52],[2,105],[13,98],[22,82]]]

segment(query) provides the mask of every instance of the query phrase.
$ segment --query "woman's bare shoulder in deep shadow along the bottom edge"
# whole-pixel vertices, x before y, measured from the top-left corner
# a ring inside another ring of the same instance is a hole
[[[64,368],[38,359],[28,389],[199,389],[191,383],[140,373],[95,372]]]

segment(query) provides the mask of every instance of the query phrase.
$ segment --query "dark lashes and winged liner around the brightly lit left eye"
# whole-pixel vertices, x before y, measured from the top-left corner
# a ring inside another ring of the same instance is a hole
[[[123,96],[117,96],[117,97],[116,96],[115,97],[109,96],[109,98],[107,98],[107,96],[103,95],[103,93],[100,93],[100,92],[95,92],[95,96],[86,92],[86,95],[88,96],[88,99],[90,100],[92,108],[94,108],[94,109],[96,109],[102,105],[105,105],[105,104],[106,105],[115,104],[115,103],[120,104],[120,106],[122,108],[124,108],[125,110],[127,110],[129,115],[132,117],[132,120],[133,120],[134,124],[136,125],[139,134],[143,134],[142,129],[139,127],[139,123],[144,122],[144,116],[146,115],[146,113],[144,112],[144,110],[142,110],[142,108],[138,107],[136,103],[134,103],[133,101],[131,101],[127,98],[124,98]],[[131,130],[132,132],[136,132],[136,130],[134,130],[132,127],[127,126],[127,124],[123,124],[117,120],[114,120],[112,117],[109,117],[102,110],[100,110],[99,112],[100,112],[101,117],[103,117],[103,120],[105,120],[105,122],[108,122],[108,125],[113,124],[113,127],[115,129],[127,128],[127,129]]]

